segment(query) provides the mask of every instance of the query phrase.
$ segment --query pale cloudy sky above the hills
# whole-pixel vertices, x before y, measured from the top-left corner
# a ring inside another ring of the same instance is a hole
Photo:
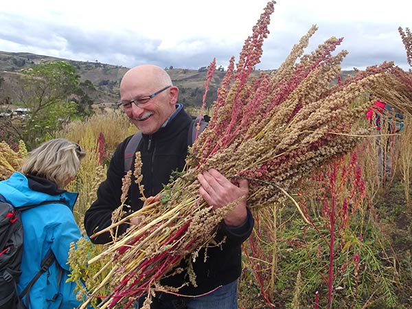
[[[0,8],[0,50],[133,67],[198,69],[238,56],[266,0],[14,0]],[[407,0],[277,0],[258,67],[275,69],[311,25],[306,52],[343,37],[343,69],[392,60],[409,69],[398,27],[412,27]],[[238,58],[236,58],[238,59]]]

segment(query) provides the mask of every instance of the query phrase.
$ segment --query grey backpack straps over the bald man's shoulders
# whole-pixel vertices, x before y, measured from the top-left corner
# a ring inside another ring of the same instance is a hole
[[[208,115],[204,115],[203,117],[192,116],[192,122],[190,123],[189,131],[187,132],[187,145],[192,146],[194,140],[196,139],[196,131],[197,125],[199,120],[201,121],[200,128],[198,134],[202,133],[203,130],[209,124],[210,117]],[[132,168],[133,158],[135,157],[135,153],[137,150],[137,146],[141,141],[141,132],[137,132],[131,139],[129,139],[128,144],[124,150],[124,172],[128,172]],[[0,308],[1,309],[1,308]]]

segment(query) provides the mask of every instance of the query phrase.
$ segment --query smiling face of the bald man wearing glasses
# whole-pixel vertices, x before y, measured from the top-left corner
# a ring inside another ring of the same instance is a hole
[[[126,84],[126,86],[128,85]],[[157,87],[159,89],[153,87],[147,87],[146,89],[122,87],[122,102],[130,102],[133,100],[138,102],[139,106],[135,103],[125,104],[124,111],[131,122],[141,130],[141,133],[153,134],[157,132],[166,119],[173,113],[175,107],[172,97],[173,93],[177,90],[175,89],[176,87],[165,89],[152,98],[148,97],[164,89],[165,86],[168,85],[161,85]]]

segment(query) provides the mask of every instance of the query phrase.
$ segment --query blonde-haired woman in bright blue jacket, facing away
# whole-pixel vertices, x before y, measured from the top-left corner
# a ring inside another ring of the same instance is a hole
[[[72,309],[80,304],[73,294],[75,284],[66,282],[70,243],[81,237],[73,217],[78,194],[64,187],[76,176],[84,155],[78,144],[52,139],[30,152],[21,172],[0,181],[1,201],[16,208],[38,205],[21,211],[24,241],[19,295],[39,274],[45,256],[55,257],[24,295],[23,304],[28,309]]]

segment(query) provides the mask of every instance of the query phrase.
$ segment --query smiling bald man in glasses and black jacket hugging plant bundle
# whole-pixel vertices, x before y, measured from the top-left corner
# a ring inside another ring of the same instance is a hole
[[[189,144],[187,136],[192,117],[185,113],[183,105],[177,102],[178,95],[179,89],[173,86],[168,73],[155,65],[141,65],[130,69],[120,83],[119,106],[142,133],[137,151],[141,153],[141,174],[144,176],[146,196],[155,196],[161,192],[172,171],[181,171],[185,166]],[[108,166],[106,180],[98,189],[98,199],[84,215],[84,227],[89,236],[111,225],[112,211],[120,205],[122,177],[126,174],[124,153],[130,139],[131,136],[117,146]],[[198,181],[201,183],[199,194],[214,209],[248,194],[247,181],[234,185],[214,169],[199,175]],[[132,181],[126,203],[131,206],[132,211],[143,207],[140,198],[139,189]],[[127,227],[128,224],[122,225],[121,233],[124,233]],[[218,227],[216,238],[222,240],[226,237],[222,248],[209,248],[206,262],[197,259],[194,263],[197,287],[188,284],[179,290],[181,295],[207,295],[176,297],[157,293],[151,308],[238,308],[237,279],[242,269],[240,245],[249,237],[252,228],[253,218],[247,209],[246,198],[242,198]],[[111,236],[104,233],[92,241],[110,242]],[[179,267],[186,268],[185,262],[182,261]],[[179,273],[163,279],[161,283],[178,288],[188,282],[185,275],[185,272]],[[221,287],[218,288],[219,286]],[[211,290],[214,292],[208,293]]]

